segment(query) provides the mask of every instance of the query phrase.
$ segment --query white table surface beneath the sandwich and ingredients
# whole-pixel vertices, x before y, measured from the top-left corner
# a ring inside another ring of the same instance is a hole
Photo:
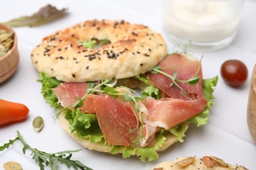
[[[39,75],[30,60],[33,48],[41,43],[43,37],[54,31],[85,20],[103,18],[127,20],[135,24],[148,25],[162,34],[163,29],[162,1],[153,0],[9,0],[0,5],[0,22],[33,14],[48,3],[58,9],[68,8],[68,16],[39,27],[14,28],[18,36],[20,63],[16,73],[7,82],[0,84],[0,99],[24,103],[30,109],[30,114],[25,122],[0,127],[0,143],[7,143],[9,139],[14,139],[18,130],[30,146],[53,153],[62,150],[77,150],[81,146],[62,130],[58,121],[54,123],[53,116],[56,112],[43,99],[41,83],[37,82]],[[160,158],[157,161],[142,163],[136,157],[123,159],[120,155],[112,156],[85,149],[73,154],[72,158],[93,169],[150,169],[161,161],[171,161],[181,156],[210,155],[223,158],[228,163],[238,163],[248,169],[256,169],[256,146],[249,134],[246,120],[249,82],[256,63],[255,17],[256,1],[245,1],[238,35],[230,46],[217,52],[193,52],[198,58],[204,56],[203,78],[219,75],[219,82],[214,93],[216,103],[209,114],[209,124],[201,127],[190,126],[184,143],[176,143],[164,152],[160,152]],[[167,45],[168,51],[172,52],[173,44],[167,41]],[[241,88],[230,88],[221,78],[220,67],[227,59],[240,59],[247,65],[249,78]],[[32,128],[32,120],[39,115],[44,118],[45,126],[41,132],[36,133]],[[39,169],[29,154],[26,156],[22,154],[20,142],[0,152],[0,169],[3,169],[3,163],[10,160],[18,161],[24,169]],[[61,169],[65,168],[61,166]]]

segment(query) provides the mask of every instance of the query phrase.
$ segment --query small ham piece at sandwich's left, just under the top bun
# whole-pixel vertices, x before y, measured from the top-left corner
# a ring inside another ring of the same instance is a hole
[[[89,86],[86,82],[63,82],[53,89],[62,107],[69,107],[77,102],[77,99],[87,93]],[[69,107],[72,109],[72,107]]]

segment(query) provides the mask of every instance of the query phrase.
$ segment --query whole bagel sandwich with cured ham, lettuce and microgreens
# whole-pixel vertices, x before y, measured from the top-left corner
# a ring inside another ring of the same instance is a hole
[[[105,43],[107,42],[107,43]],[[63,129],[89,150],[141,161],[207,124],[217,76],[167,55],[160,34],[125,21],[91,20],[45,37],[32,51],[43,97]]]

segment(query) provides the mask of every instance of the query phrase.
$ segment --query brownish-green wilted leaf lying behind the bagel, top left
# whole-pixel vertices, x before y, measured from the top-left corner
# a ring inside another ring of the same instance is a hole
[[[48,22],[53,22],[65,15],[66,9],[58,10],[56,7],[47,5],[32,16],[22,16],[8,22],[4,22],[4,24],[9,25],[10,27],[34,27]]]

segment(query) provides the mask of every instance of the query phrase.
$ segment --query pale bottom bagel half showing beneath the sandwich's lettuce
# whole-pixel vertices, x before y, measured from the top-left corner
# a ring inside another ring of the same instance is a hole
[[[86,139],[81,139],[81,138],[77,137],[77,133],[75,131],[74,131],[74,133],[71,134],[70,128],[69,128],[70,124],[69,124],[68,120],[66,120],[66,118],[64,117],[63,112],[60,113],[60,116],[58,119],[59,119],[60,125],[62,126],[64,131],[66,131],[66,133],[68,133],[68,135],[70,135],[75,141],[77,141],[77,143],[81,144],[83,147],[85,147],[89,150],[96,150],[98,152],[110,152],[111,146],[104,145],[103,141],[100,141],[100,143],[91,143],[90,141],[88,141]],[[177,141],[179,141],[178,137],[176,137],[175,135],[169,135],[167,137],[167,140],[165,141],[165,143],[163,143],[161,148],[158,149],[158,152],[165,150],[166,148],[171,146],[171,144],[174,144]],[[122,150],[119,150],[119,153],[122,153]]]

